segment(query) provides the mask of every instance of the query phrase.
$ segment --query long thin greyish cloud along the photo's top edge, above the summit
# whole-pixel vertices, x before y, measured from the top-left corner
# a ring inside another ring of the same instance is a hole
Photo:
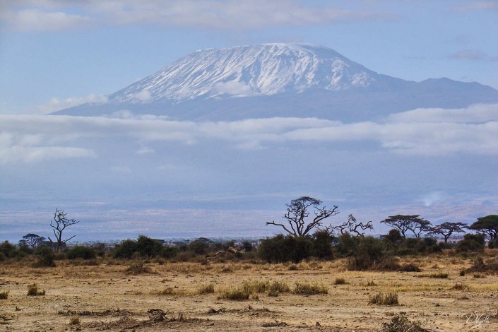
[[[4,9],[2,20],[13,30],[66,30],[90,23],[257,30],[394,17],[391,13],[353,10],[337,4],[309,6],[294,0],[6,1]]]

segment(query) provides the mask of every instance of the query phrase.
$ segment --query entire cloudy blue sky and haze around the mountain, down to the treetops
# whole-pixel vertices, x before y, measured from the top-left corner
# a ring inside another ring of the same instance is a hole
[[[45,114],[105,100],[197,49],[304,42],[405,80],[498,88],[498,1],[0,0],[0,240],[259,236],[302,195],[379,225],[496,213],[498,105],[194,123]],[[18,223],[22,219],[23,223]]]

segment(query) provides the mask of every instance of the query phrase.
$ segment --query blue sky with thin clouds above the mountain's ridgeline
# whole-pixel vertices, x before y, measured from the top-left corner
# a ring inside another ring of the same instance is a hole
[[[0,112],[98,100],[196,49],[307,42],[413,81],[498,88],[498,1],[0,2]]]

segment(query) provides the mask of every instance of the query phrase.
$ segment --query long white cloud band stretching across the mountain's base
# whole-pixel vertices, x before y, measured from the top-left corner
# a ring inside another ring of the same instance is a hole
[[[136,141],[205,144],[221,141],[234,148],[257,149],[316,142],[374,143],[379,149],[410,155],[467,153],[498,155],[498,105],[466,109],[415,109],[384,121],[343,124],[321,119],[272,118],[243,121],[170,121],[153,115],[125,118],[6,115],[0,116],[3,162],[95,156],[90,141]],[[126,138],[126,139],[121,139]],[[98,143],[95,143],[98,144]],[[153,153],[141,148],[138,154]]]

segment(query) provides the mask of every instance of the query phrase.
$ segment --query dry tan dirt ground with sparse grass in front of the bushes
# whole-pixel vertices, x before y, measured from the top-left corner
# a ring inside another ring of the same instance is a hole
[[[130,262],[4,264],[0,293],[8,292],[8,298],[0,300],[0,331],[379,331],[397,314],[431,331],[498,331],[498,275],[461,276],[473,258],[402,261],[422,271],[346,271],[343,260],[296,266],[160,262],[146,264],[149,273],[139,274],[126,272]],[[449,277],[433,278],[437,273]],[[264,280],[290,291],[224,298],[230,287]],[[32,283],[45,295],[28,296]],[[295,294],[296,283],[324,286],[328,293]],[[201,291],[209,285],[214,292]],[[379,292],[397,292],[399,304],[369,304]],[[71,325],[71,319],[79,324]]]

